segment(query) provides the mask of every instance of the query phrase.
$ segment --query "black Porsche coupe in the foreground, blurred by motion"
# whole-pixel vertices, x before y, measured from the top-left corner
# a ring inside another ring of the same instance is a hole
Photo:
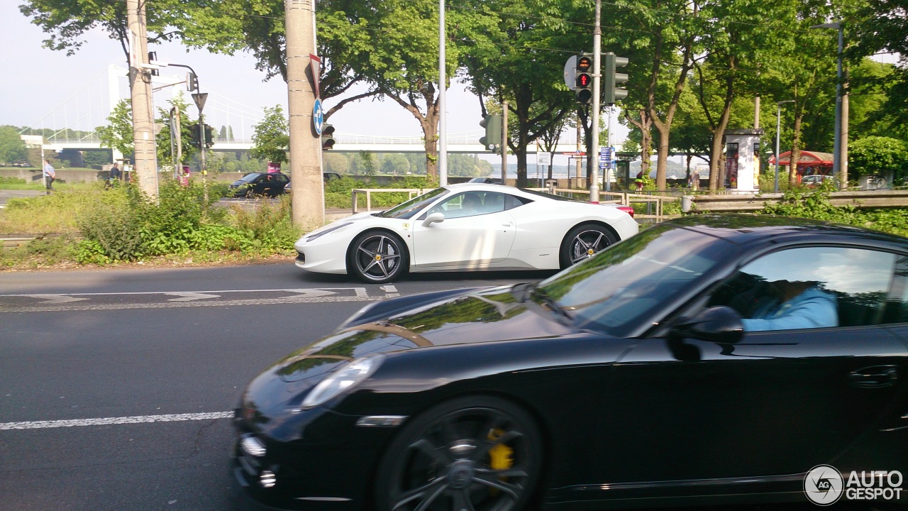
[[[233,471],[296,509],[820,503],[817,466],[859,498],[850,471],[908,473],[906,370],[908,239],[688,216],[366,306],[252,380]]]

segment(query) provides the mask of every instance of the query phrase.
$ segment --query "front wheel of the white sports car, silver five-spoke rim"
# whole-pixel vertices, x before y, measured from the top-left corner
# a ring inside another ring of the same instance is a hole
[[[347,254],[347,271],[363,282],[390,282],[407,271],[406,247],[400,237],[367,231],[353,240]]]

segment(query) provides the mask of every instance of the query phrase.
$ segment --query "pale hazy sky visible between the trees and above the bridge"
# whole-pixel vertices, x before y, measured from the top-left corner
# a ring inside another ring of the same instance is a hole
[[[119,42],[97,29],[84,36],[85,44],[75,55],[44,48],[42,41],[47,35],[19,12],[19,4],[18,0],[0,1],[0,47],[4,48],[0,69],[5,77],[0,94],[0,125],[89,130],[105,125],[109,113],[107,68],[126,65]],[[202,92],[209,93],[204,106],[208,124],[231,125],[238,138],[252,135],[252,125],[261,120],[263,107],[281,105],[287,111],[287,88],[283,80],[275,77],[264,81],[265,74],[255,69],[251,55],[187,51],[176,43],[150,45],[149,51],[156,52],[159,61],[190,65],[199,75]],[[169,67],[161,70],[161,74],[176,80],[183,79],[186,71]],[[118,83],[119,95],[128,97],[127,80],[122,78]],[[192,104],[185,87],[177,85],[155,92],[155,107],[169,108],[168,100],[181,88],[185,99]],[[477,96],[455,83],[446,99],[449,138],[459,134],[478,138],[482,128]],[[327,100],[325,109],[332,105]],[[195,114],[194,108],[191,112]],[[331,116],[329,123],[339,136],[422,135],[416,118],[389,101],[367,99],[345,105]]]

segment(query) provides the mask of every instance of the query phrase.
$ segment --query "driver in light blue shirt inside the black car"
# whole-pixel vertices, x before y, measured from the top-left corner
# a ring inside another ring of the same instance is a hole
[[[835,296],[821,290],[816,282],[776,280],[770,284],[781,300],[763,307],[750,319],[742,319],[745,332],[839,325]]]

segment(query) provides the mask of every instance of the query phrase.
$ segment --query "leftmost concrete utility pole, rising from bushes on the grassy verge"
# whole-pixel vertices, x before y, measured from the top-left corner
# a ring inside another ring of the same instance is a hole
[[[145,1],[126,0],[129,25],[129,88],[133,102],[133,148],[139,188],[153,199],[158,196],[158,161],[154,146],[152,74],[148,66]]]

